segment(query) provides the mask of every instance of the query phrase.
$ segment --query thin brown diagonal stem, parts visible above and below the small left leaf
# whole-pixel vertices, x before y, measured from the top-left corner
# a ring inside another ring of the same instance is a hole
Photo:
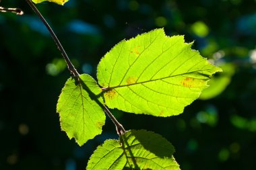
[[[0,0],[1,1],[1,0]],[[57,38],[57,36],[55,35],[55,33],[53,32],[53,30],[51,29],[51,26],[49,26],[49,24],[46,22],[46,20],[44,19],[44,17],[42,16],[42,14],[40,13],[40,11],[38,11],[38,9],[36,8],[36,6],[34,5],[34,3],[32,3],[31,0],[26,0],[27,3],[30,5],[30,7],[34,10],[34,12],[36,13],[36,15],[38,15],[38,17],[41,19],[42,23],[44,24],[44,26],[46,26],[47,30],[50,32],[51,36],[53,37],[53,40],[55,41],[57,48],[60,50],[63,58],[65,59],[65,62],[67,63],[67,69],[69,69],[69,71],[71,72],[71,74],[74,77],[79,77],[79,73],[77,72],[77,70],[75,69],[75,67],[73,66],[71,60],[69,60],[69,57],[67,56],[67,53],[65,52],[63,46],[61,45],[61,42],[59,42],[59,39]],[[119,136],[121,136],[122,134],[125,133],[125,128],[123,128],[122,124],[120,124],[117,119],[115,118],[115,116],[113,116],[113,114],[108,110],[108,108],[106,108],[105,105],[101,105],[102,109],[104,110],[104,112],[108,115],[108,117],[113,121],[113,123],[116,126],[117,129],[117,134],[119,134]]]

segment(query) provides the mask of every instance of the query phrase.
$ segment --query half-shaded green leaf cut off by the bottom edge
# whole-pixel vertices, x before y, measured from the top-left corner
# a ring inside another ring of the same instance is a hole
[[[106,140],[90,157],[86,169],[172,169],[179,164],[174,147],[160,134],[130,130],[119,140]]]

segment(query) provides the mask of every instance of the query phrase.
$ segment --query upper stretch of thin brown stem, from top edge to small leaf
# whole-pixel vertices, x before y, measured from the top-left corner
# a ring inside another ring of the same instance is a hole
[[[62,47],[61,42],[59,42],[59,39],[57,38],[57,36],[53,32],[53,30],[51,29],[51,26],[49,26],[49,24],[46,22],[46,20],[44,19],[44,17],[40,13],[40,11],[38,11],[38,9],[34,5],[34,3],[32,3],[31,0],[26,0],[26,1],[27,1],[28,5],[30,5],[30,7],[34,10],[36,15],[38,15],[38,17],[41,19],[41,21],[43,22],[44,26],[46,26],[47,30],[49,30],[51,36],[53,37],[53,40],[55,41],[58,49],[61,51],[61,54],[62,54],[63,58],[65,59],[65,62],[67,63],[67,69],[69,69],[69,71],[71,72],[71,74],[73,74],[73,76],[75,76],[75,77],[79,76],[79,73],[76,71],[76,69],[73,66],[72,62],[69,60],[69,57],[67,56],[64,48]]]

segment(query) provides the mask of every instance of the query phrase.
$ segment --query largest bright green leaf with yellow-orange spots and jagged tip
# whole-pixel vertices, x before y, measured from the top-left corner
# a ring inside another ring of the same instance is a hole
[[[119,42],[98,65],[106,105],[135,114],[181,114],[221,71],[191,45],[162,29]]]

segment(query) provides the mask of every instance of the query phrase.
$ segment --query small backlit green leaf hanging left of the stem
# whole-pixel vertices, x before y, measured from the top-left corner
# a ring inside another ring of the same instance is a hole
[[[61,129],[70,139],[75,138],[79,146],[102,132],[106,117],[99,105],[101,91],[90,75],[79,75],[78,80],[67,80],[59,96]]]

